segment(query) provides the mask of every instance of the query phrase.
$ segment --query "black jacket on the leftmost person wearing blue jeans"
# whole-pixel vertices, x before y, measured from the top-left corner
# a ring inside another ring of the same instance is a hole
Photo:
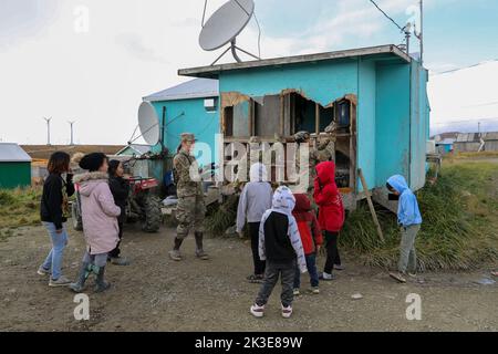
[[[59,174],[50,174],[43,184],[40,218],[45,222],[53,222],[55,229],[61,230],[62,223],[68,221],[68,197],[74,194],[73,175],[68,174],[66,180]]]

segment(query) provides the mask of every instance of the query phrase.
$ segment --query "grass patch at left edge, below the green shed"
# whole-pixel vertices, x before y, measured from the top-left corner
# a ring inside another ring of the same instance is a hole
[[[0,189],[0,239],[18,227],[40,225],[41,192],[39,187]]]

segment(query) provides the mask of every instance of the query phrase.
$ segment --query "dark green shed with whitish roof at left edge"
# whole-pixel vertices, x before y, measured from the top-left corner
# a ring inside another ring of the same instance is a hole
[[[0,188],[31,185],[31,157],[14,143],[0,143]]]

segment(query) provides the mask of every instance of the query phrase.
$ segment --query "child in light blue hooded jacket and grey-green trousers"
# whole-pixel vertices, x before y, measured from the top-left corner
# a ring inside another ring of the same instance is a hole
[[[422,216],[418,210],[417,197],[409,190],[405,177],[396,175],[387,179],[387,189],[400,197],[397,207],[397,222],[402,226],[402,240],[400,246],[400,261],[397,273],[390,273],[391,278],[405,283],[406,270],[408,275],[416,277],[417,256],[415,238],[421,230]]]

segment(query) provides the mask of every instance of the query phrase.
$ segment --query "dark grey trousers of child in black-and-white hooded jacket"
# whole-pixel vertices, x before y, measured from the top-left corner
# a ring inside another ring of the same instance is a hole
[[[294,283],[294,272],[297,268],[295,260],[289,262],[272,262],[267,261],[267,267],[264,271],[264,280],[261,284],[258,298],[256,298],[256,304],[263,306],[268,303],[268,298],[270,298],[274,285],[279,277],[282,282],[282,293],[280,300],[283,306],[290,306],[294,300],[294,294],[292,292],[292,285]]]

